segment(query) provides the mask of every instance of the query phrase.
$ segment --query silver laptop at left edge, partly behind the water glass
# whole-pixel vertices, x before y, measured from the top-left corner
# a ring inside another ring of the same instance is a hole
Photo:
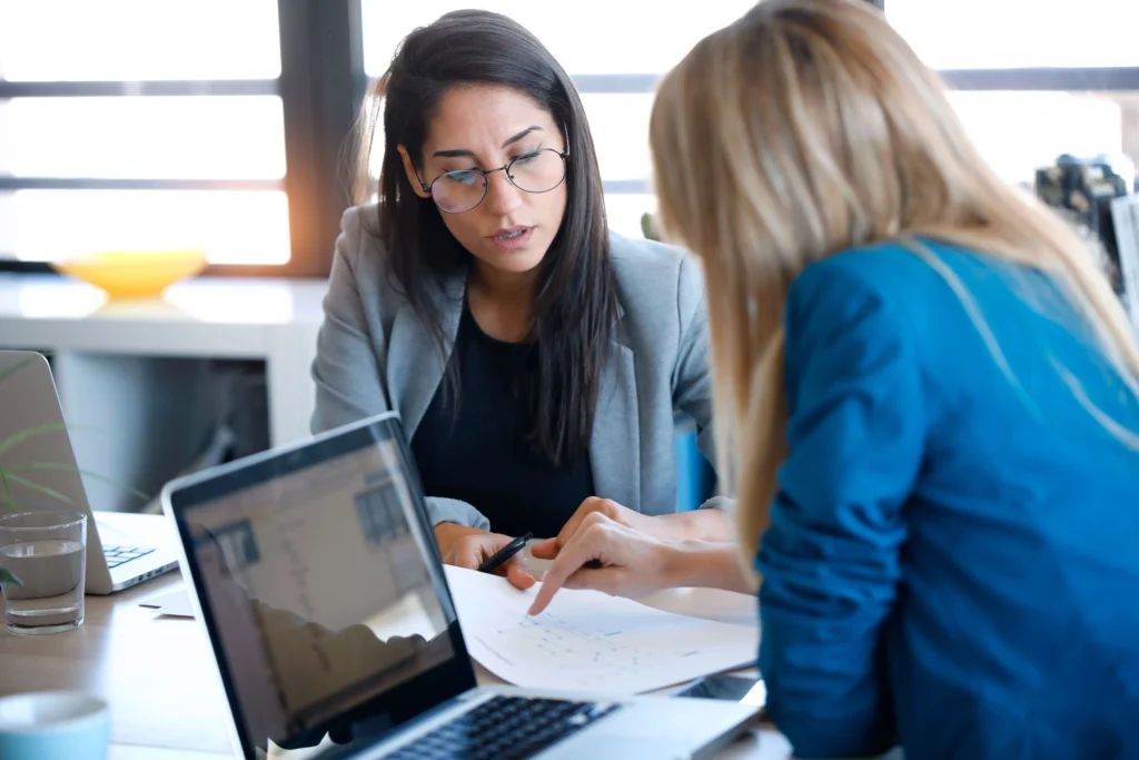
[[[19,477],[8,480],[15,506],[88,515],[87,594],[120,591],[178,566],[162,515],[92,512],[42,353],[0,351],[0,441],[23,434],[14,444],[0,444],[0,468]],[[32,428],[40,432],[27,434]]]

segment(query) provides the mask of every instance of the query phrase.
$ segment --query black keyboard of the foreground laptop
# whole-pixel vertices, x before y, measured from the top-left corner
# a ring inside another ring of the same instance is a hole
[[[388,760],[514,760],[620,710],[620,704],[495,696],[425,734]]]

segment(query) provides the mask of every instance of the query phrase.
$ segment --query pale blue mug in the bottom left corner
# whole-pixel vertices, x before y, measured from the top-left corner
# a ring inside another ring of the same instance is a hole
[[[106,760],[107,703],[79,692],[33,692],[0,697],[3,760]]]

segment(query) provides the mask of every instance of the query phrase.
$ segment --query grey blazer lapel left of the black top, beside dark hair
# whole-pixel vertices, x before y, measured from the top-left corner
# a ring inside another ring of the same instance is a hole
[[[452,278],[435,299],[446,337],[448,356],[440,354],[435,340],[410,304],[403,304],[395,312],[387,346],[387,390],[392,408],[400,412],[408,442],[423,422],[443,379],[459,333],[465,288],[465,277]]]

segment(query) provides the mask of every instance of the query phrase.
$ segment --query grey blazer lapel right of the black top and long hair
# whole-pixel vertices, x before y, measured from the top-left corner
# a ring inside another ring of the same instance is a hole
[[[589,441],[593,491],[630,509],[640,510],[640,416],[633,352],[609,342],[601,367],[601,389]]]

